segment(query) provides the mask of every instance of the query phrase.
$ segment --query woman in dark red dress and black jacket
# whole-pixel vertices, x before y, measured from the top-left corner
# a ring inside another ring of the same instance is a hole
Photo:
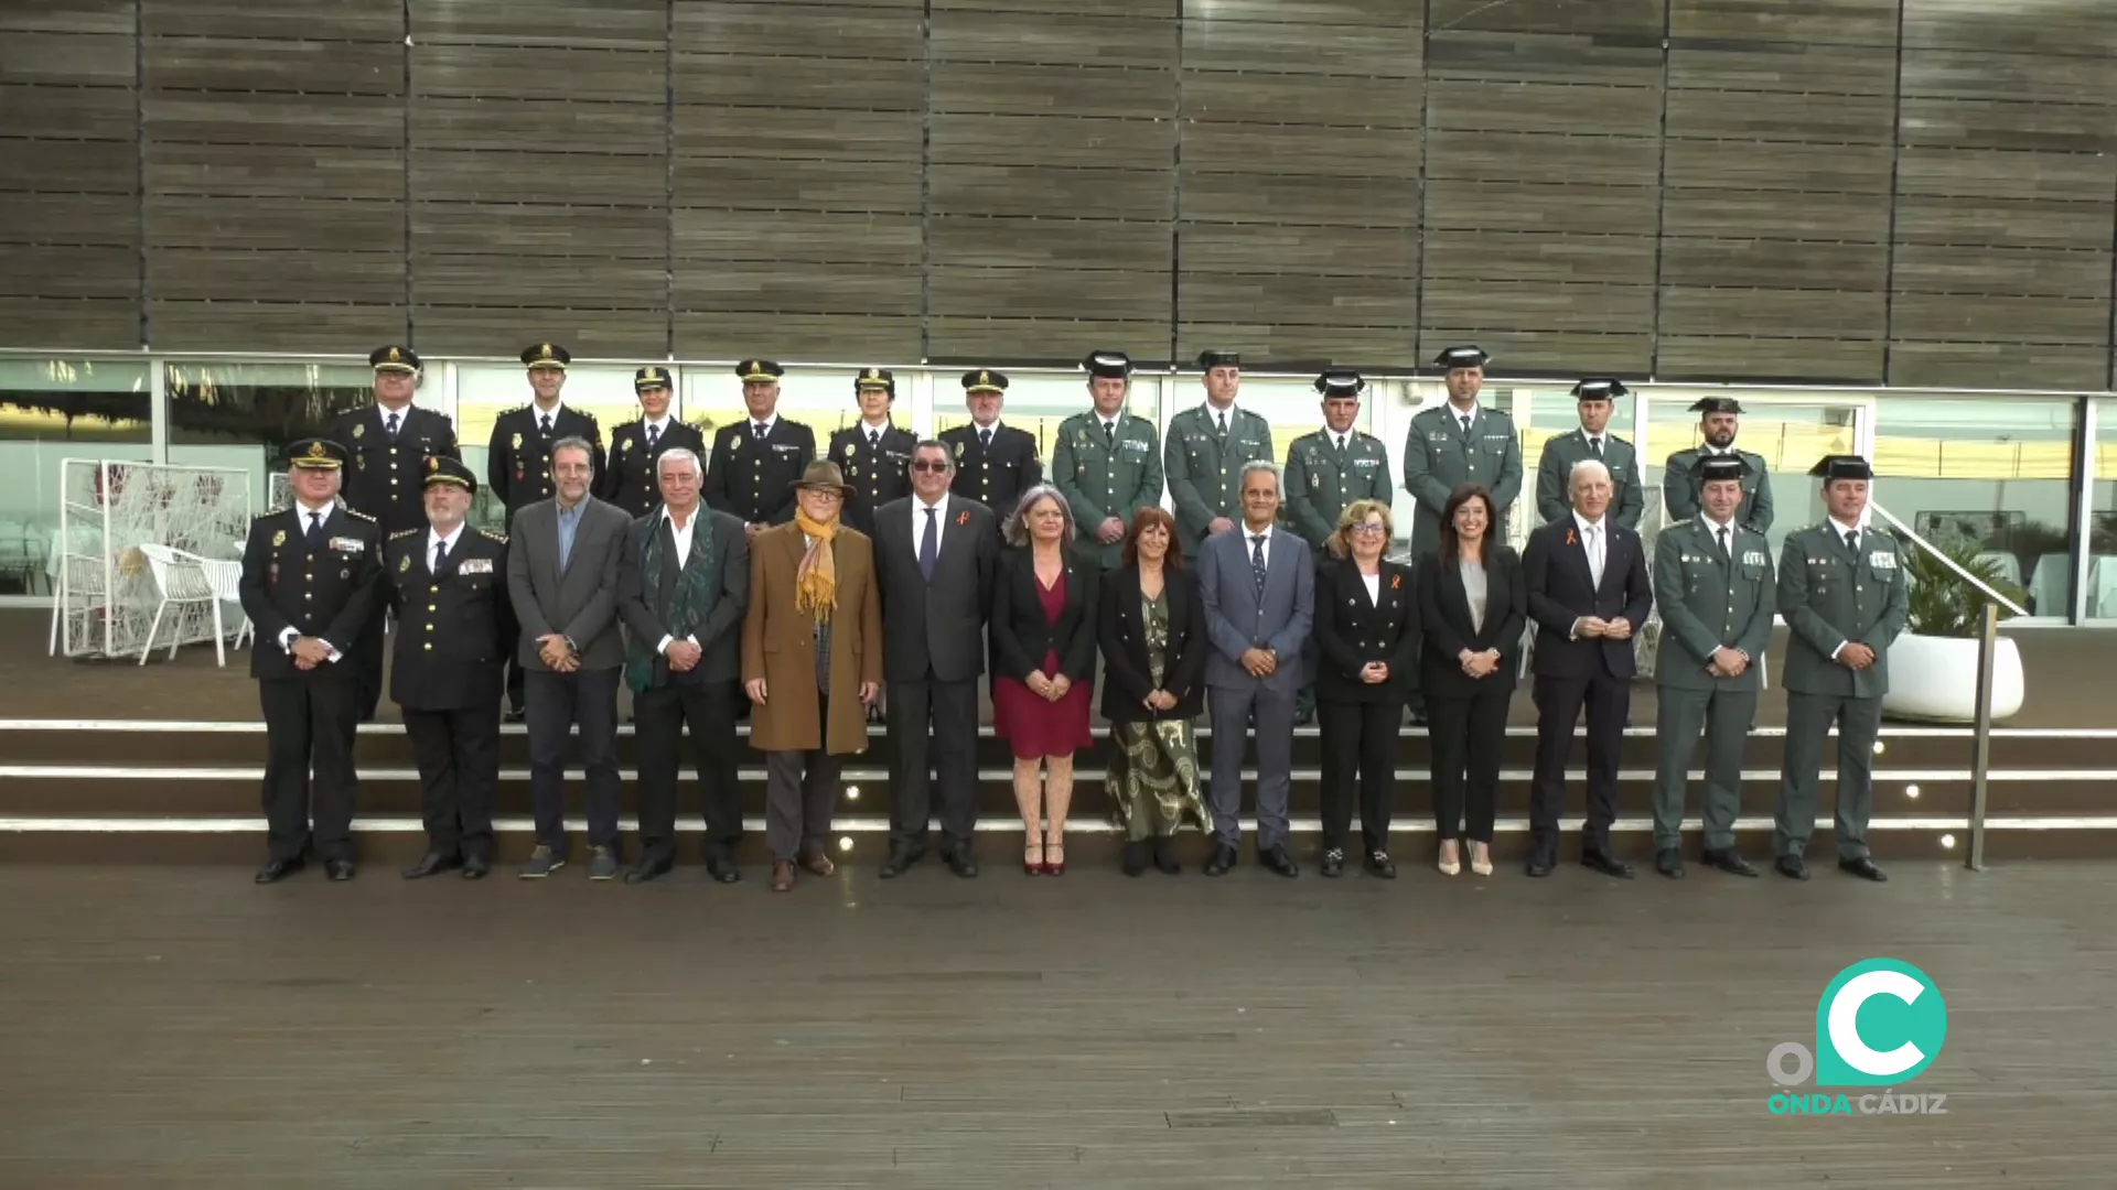
[[[1073,754],[1088,747],[1094,690],[1094,567],[1071,553],[1073,515],[1056,487],[1023,493],[993,582],[993,735],[1014,750],[1023,872],[1065,875]]]

